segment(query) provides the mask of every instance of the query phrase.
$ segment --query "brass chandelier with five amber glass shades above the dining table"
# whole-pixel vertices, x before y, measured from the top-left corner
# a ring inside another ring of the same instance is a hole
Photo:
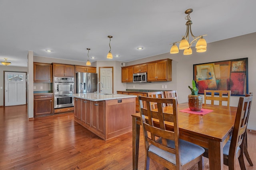
[[[175,43],[172,43],[172,47],[170,50],[171,54],[176,54],[179,53],[179,49],[184,50],[183,54],[184,55],[191,55],[192,54],[192,49],[191,46],[193,43],[196,43],[196,52],[202,53],[206,51],[207,43],[204,39],[204,36],[206,35],[199,35],[198,37],[194,36],[192,31],[191,31],[191,24],[192,21],[190,20],[190,13],[193,12],[193,9],[188,9],[185,11],[185,14],[188,14],[185,19],[188,20],[186,22],[187,25],[187,30],[185,35],[182,37],[180,41],[177,41]],[[193,40],[189,43],[189,33],[191,34]],[[177,47],[176,43],[180,43],[179,48]]]

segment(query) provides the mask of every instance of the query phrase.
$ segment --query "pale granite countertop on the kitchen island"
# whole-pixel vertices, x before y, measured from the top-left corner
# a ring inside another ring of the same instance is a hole
[[[126,94],[107,94],[107,93],[77,93],[77,94],[66,94],[75,98],[81,98],[91,101],[103,101],[103,100],[114,100],[114,99],[123,99],[123,98],[136,98],[134,95]]]

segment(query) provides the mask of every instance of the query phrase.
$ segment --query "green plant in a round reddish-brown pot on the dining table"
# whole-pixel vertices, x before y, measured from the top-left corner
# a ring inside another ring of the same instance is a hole
[[[203,104],[203,97],[198,95],[198,88],[196,88],[196,82],[192,80],[192,88],[188,86],[191,90],[191,94],[188,95],[188,107],[192,111],[201,111]]]

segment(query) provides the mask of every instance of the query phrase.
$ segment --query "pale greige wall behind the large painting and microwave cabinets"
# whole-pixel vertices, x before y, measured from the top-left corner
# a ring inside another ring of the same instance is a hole
[[[207,37],[205,37],[207,40]],[[230,59],[240,59],[248,57],[248,87],[249,92],[256,94],[256,33],[242,35],[231,39],[225,39],[214,43],[208,43],[207,51],[205,53],[196,53],[195,48],[192,47],[193,54],[185,56],[180,51],[178,54],[165,53],[146,59],[140,59],[126,63],[126,66],[133,64],[146,63],[148,61],[155,61],[159,59],[172,59],[172,82],[159,83],[126,83],[127,89],[161,89],[161,84],[167,85],[167,90],[178,90],[179,102],[187,102],[193,79],[193,64],[209,63],[214,61],[224,61]],[[162,89],[161,89],[162,90]],[[255,98],[255,95],[254,95]],[[238,105],[239,96],[231,96],[230,105]],[[256,99],[254,99],[256,100]],[[250,118],[248,122],[248,129],[256,130],[256,104],[253,102]]]

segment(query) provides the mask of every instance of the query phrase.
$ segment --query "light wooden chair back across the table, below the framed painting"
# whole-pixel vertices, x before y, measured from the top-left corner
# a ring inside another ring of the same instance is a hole
[[[216,93],[219,95],[216,96]],[[210,94],[211,96],[206,96]],[[227,94],[227,96],[223,96],[223,94]],[[206,104],[206,100],[211,100],[211,104],[214,105],[214,101],[219,101],[219,105],[222,106],[222,101],[227,102],[227,106],[230,105],[230,90],[204,90],[204,104]]]

